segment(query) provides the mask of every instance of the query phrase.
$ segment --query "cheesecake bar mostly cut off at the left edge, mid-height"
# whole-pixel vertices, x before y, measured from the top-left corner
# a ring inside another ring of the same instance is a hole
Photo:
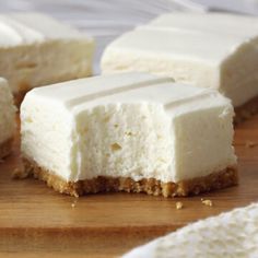
[[[0,160],[10,154],[15,132],[15,106],[8,82],[0,78]]]

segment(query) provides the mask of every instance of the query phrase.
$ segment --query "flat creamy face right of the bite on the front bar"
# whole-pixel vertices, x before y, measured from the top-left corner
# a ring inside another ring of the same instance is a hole
[[[211,99],[207,99],[211,102]],[[208,103],[207,103],[208,104]],[[175,113],[175,177],[174,181],[203,177],[235,166],[233,142],[233,109],[230,105],[201,108],[191,103],[190,110]]]

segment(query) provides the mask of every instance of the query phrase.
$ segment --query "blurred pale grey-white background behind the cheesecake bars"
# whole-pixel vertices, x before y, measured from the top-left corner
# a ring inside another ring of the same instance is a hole
[[[3,12],[44,12],[96,38],[95,73],[104,47],[121,33],[165,12],[224,11],[258,15],[258,0],[7,0]]]

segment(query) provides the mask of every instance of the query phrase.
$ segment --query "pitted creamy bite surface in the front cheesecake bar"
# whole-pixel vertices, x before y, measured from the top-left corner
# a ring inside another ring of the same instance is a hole
[[[77,119],[81,167],[75,178],[172,180],[172,121],[162,105],[110,104],[83,112]]]

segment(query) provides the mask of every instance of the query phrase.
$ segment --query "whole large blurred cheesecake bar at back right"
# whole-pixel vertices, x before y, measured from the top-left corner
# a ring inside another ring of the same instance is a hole
[[[104,73],[148,71],[231,98],[235,121],[258,113],[258,19],[222,13],[163,14],[107,46]]]

